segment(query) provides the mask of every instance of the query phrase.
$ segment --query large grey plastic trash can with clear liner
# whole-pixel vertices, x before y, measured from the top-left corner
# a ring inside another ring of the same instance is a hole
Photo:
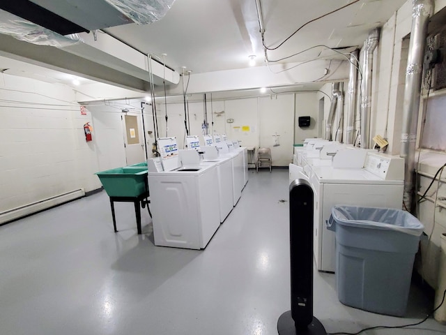
[[[406,313],[413,260],[423,225],[399,209],[335,206],[337,294],[342,304],[375,313]]]

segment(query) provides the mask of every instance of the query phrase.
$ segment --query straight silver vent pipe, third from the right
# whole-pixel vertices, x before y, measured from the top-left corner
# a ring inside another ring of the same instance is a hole
[[[350,75],[348,76],[348,94],[346,96],[347,107],[347,129],[344,142],[353,144],[353,134],[355,133],[355,114],[356,114],[356,87],[357,87],[357,50],[350,54]]]

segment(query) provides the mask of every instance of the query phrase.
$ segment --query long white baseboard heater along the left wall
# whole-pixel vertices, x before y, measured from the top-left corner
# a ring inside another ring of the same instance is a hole
[[[31,202],[31,204],[25,204],[24,206],[0,212],[0,225],[9,221],[13,221],[17,218],[22,218],[23,216],[36,213],[37,211],[42,211],[43,209],[48,209],[50,207],[57,206],[58,204],[63,204],[63,202],[82,198],[84,195],[84,188],[79,188],[79,190],[55,195],[51,198]]]

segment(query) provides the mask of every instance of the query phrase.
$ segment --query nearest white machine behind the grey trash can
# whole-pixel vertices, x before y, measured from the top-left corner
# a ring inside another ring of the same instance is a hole
[[[319,271],[334,272],[335,234],[326,227],[337,204],[401,209],[403,158],[367,152],[363,168],[314,166],[314,258]]]

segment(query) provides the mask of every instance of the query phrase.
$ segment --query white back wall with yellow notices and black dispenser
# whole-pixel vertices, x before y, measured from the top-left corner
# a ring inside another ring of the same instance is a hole
[[[212,110],[214,112],[214,133],[226,133],[231,140],[239,140],[241,145],[246,147],[270,147],[272,149],[272,164],[286,166],[292,161],[293,155],[295,104],[299,105],[298,115],[312,117],[312,127],[309,129],[296,128],[298,136],[302,138],[316,136],[318,122],[316,93],[297,94],[296,97],[295,94],[281,94],[238,98],[213,101],[212,104],[208,100],[209,133],[212,133],[210,114]],[[202,134],[203,108],[202,101],[189,103],[191,135]],[[176,136],[179,146],[183,147],[184,105],[183,103],[169,103],[167,110],[169,136]],[[233,123],[227,123],[227,119],[233,119]],[[276,133],[279,135],[280,145],[274,147],[275,137],[273,135]]]

